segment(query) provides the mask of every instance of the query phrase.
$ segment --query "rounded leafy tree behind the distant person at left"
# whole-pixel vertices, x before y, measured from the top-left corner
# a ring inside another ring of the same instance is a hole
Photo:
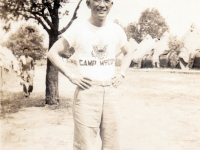
[[[30,50],[30,56],[36,60],[44,56],[46,49],[43,46],[44,35],[40,34],[38,28],[32,25],[21,26],[15,33],[11,34],[3,46],[10,49],[15,55],[22,55],[26,47]]]

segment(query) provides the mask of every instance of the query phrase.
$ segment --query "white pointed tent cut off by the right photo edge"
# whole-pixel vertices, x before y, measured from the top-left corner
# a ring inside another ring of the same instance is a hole
[[[200,45],[200,30],[195,24],[191,25],[182,40],[184,42],[184,48],[181,49],[179,57],[183,58],[183,60],[188,63],[190,54],[196,53],[196,50]]]

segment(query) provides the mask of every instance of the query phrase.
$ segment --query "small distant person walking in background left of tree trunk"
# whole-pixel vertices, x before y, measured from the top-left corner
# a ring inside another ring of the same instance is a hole
[[[31,58],[29,54],[29,49],[24,48],[22,56],[20,56],[20,72],[23,85],[23,91],[26,97],[30,95],[33,90],[33,76],[34,76],[34,60]]]

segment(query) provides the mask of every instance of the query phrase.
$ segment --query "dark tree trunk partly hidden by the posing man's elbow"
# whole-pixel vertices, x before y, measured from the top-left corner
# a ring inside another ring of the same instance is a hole
[[[49,34],[49,49],[57,41],[57,34]],[[46,71],[46,104],[54,105],[59,103],[58,92],[58,69],[47,59]]]

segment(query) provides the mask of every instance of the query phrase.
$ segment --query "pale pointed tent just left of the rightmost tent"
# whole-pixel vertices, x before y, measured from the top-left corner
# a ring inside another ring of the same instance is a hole
[[[169,32],[165,32],[160,40],[157,41],[155,48],[154,48],[154,54],[153,54],[153,64],[158,63],[159,64],[159,56],[165,51],[169,50],[168,46],[168,40],[169,40],[170,34]]]

